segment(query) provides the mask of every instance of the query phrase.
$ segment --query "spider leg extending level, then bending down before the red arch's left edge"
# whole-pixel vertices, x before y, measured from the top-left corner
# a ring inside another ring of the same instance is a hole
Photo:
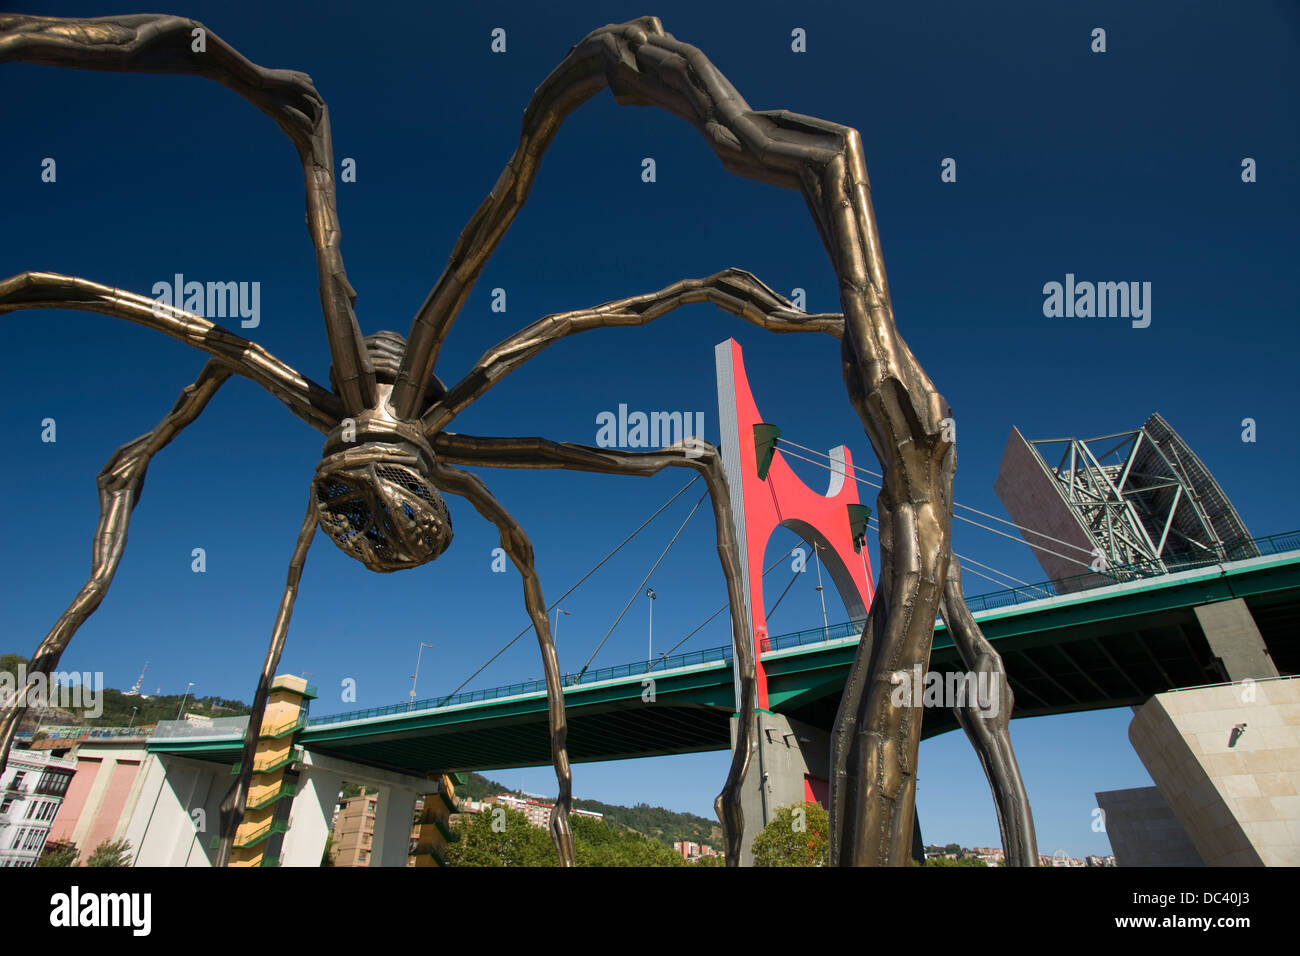
[[[727,579],[731,602],[732,650],[741,675],[738,701],[740,727],[732,750],[731,769],[714,810],[723,823],[728,866],[740,866],[745,817],[741,812],[740,788],[749,770],[754,743],[754,705],[758,698],[749,610],[745,606],[740,571],[740,546],[732,527],[731,492],[723,473],[718,449],[697,442],[690,449],[668,447],[660,451],[616,451],[547,438],[481,438],[468,434],[442,433],[433,440],[434,454],[442,462],[480,464],[494,468],[569,468],[607,475],[655,475],[667,467],[694,468],[708,486],[718,527],[718,557]],[[545,617],[545,615],[543,615]],[[744,744],[744,745],[742,745]]]

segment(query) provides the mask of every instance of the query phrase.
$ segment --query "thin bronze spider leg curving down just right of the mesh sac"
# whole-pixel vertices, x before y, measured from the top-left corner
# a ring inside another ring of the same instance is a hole
[[[551,760],[555,763],[555,779],[559,795],[555,797],[555,812],[551,814],[551,838],[559,853],[560,866],[575,866],[573,832],[569,829],[568,814],[573,803],[573,773],[569,769],[566,737],[568,724],[564,718],[564,688],[560,683],[560,665],[555,656],[555,641],[551,640],[550,617],[546,601],[542,598],[542,583],[533,564],[533,545],[519,522],[497,501],[488,485],[477,475],[454,468],[443,462],[434,462],[433,481],[438,488],[474,506],[484,518],[497,525],[500,532],[500,546],[515,562],[524,579],[524,605],[533,619],[537,643],[542,650],[542,667],[546,672],[546,718],[551,732]]]

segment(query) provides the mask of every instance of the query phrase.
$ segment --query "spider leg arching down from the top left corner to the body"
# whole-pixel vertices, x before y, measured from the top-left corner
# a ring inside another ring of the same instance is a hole
[[[205,39],[202,51],[194,49],[198,31]],[[274,120],[303,163],[307,229],[316,247],[325,333],[343,406],[350,414],[373,407],[378,394],[374,369],[352,312],[356,293],[347,281],[339,251],[329,109],[311,77],[259,66],[203,23],[155,13],[87,20],[0,14],[0,64],[10,61],[207,77]]]

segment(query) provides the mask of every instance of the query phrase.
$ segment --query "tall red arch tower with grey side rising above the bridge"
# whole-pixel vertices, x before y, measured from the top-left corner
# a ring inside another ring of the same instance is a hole
[[[767,674],[762,653],[768,650],[767,614],[763,602],[763,554],[777,527],[790,528],[818,554],[835,581],[853,620],[864,620],[875,585],[864,548],[854,546],[850,505],[859,505],[858,483],[850,480],[853,458],[840,445],[831,449],[831,483],[826,494],[809,488],[790,470],[777,442],[766,477],[760,477],[762,451],[755,425],[764,425],[740,343],[733,338],[714,349],[718,368],[718,421],[722,432],[723,468],[732,490],[732,520],[740,540],[745,604],[750,611],[754,661],[758,669],[757,706],[768,709]],[[771,427],[768,427],[770,429]],[[737,675],[737,701],[740,679]]]

